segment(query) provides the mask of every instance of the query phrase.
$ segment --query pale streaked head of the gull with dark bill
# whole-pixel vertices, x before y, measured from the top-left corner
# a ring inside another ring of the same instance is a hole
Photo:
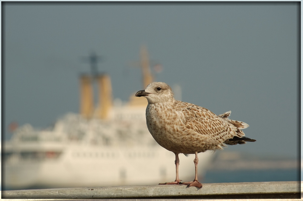
[[[174,93],[170,86],[164,82],[152,82],[145,90],[138,91],[135,96],[144,96],[149,104],[174,100]]]

